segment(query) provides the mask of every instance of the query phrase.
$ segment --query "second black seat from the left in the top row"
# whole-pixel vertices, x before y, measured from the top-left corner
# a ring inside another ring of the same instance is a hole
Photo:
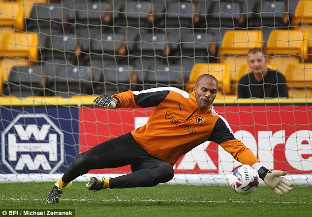
[[[71,31],[103,31],[109,3],[95,1],[78,1],[73,4],[73,8],[68,10],[67,23]],[[80,30],[81,29],[81,30]]]

